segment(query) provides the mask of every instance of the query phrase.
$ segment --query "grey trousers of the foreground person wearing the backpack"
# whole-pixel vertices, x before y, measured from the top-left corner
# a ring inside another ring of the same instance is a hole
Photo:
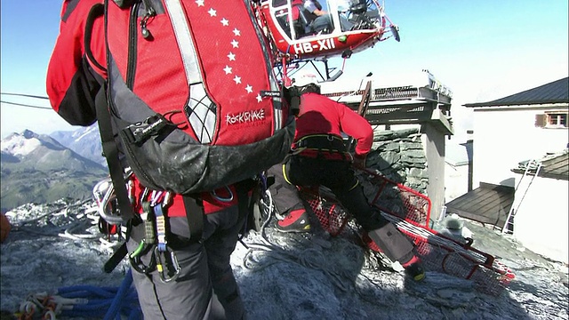
[[[174,250],[181,267],[175,281],[164,283],[156,270],[147,275],[132,268],[144,318],[244,319],[243,301],[229,263],[243,222],[236,205],[204,215],[202,242]],[[170,225],[172,233],[188,236],[186,218],[172,218]],[[130,240],[129,252],[136,245]],[[146,252],[142,262],[148,265],[150,256],[151,252]]]

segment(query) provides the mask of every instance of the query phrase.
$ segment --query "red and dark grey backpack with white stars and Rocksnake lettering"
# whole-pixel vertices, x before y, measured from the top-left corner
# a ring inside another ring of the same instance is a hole
[[[144,186],[210,191],[284,159],[294,122],[251,4],[107,1],[104,10],[104,105]]]

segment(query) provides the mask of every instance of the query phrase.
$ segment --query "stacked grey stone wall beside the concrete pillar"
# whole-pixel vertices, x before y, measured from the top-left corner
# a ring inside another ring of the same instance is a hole
[[[427,194],[427,157],[419,128],[376,130],[366,166],[378,170],[389,180]]]

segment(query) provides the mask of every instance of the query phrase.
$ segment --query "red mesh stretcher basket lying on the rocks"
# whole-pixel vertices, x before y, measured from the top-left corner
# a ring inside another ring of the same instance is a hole
[[[389,180],[378,172],[364,170],[359,176],[370,204],[415,244],[417,254],[429,271],[443,272],[474,281],[478,291],[500,295],[515,278],[513,272],[491,254],[461,244],[429,228],[431,202],[413,188]],[[301,189],[301,196],[332,236],[346,226],[349,214],[322,188]],[[363,236],[366,238],[366,235]],[[370,249],[380,251],[370,240]]]

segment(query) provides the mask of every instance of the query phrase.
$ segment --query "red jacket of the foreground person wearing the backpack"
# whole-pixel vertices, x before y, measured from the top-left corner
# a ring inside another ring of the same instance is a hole
[[[99,92],[104,79],[105,69],[85,55],[84,31],[87,16],[93,4],[102,4],[102,0],[66,0],[61,8],[60,35],[53,48],[47,69],[46,88],[52,108],[69,124],[90,125],[96,121],[94,97]],[[106,67],[106,44],[103,17],[93,23],[91,51],[96,62]],[[77,102],[79,101],[79,102]],[[77,111],[77,105],[81,106]],[[236,204],[236,190],[230,187],[234,195],[229,202],[219,201],[210,193],[202,195],[204,211],[217,212],[224,207]],[[143,187],[135,179],[134,195],[142,193]],[[220,198],[228,198],[228,189],[216,190]],[[140,204],[140,201],[136,202]],[[141,208],[135,208],[140,212]],[[168,208],[171,217],[185,217],[186,211],[180,195],[173,198]]]

